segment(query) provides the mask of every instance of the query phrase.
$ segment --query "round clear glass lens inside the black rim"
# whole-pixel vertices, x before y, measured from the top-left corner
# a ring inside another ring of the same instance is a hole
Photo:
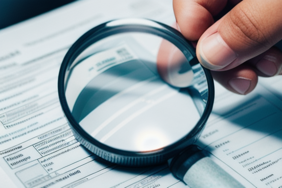
[[[192,85],[180,89],[165,83],[157,67],[161,43],[164,39],[155,35],[118,34],[74,60],[67,102],[73,118],[95,140],[126,151],[151,151],[179,141],[195,127],[205,108],[205,74],[199,64],[175,66],[171,75],[188,72]],[[178,61],[188,64],[179,49],[169,62]]]

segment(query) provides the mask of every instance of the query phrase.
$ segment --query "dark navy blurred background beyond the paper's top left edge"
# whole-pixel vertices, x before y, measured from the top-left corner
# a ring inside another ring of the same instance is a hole
[[[75,0],[0,0],[0,29]]]

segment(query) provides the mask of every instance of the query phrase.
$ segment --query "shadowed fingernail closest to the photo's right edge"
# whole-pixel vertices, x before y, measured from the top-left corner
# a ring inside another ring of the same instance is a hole
[[[274,76],[279,73],[275,65],[276,57],[266,55],[260,61],[258,61],[256,67],[258,71],[261,71],[267,76]]]

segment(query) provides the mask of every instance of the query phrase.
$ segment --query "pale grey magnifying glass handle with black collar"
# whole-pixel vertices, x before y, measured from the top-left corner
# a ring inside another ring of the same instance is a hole
[[[196,145],[174,157],[169,166],[173,175],[191,188],[245,188]]]

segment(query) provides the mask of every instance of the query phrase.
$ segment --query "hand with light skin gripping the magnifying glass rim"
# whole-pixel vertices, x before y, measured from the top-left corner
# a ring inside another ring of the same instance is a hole
[[[214,23],[227,5],[232,10]],[[282,74],[282,0],[173,0],[179,30],[221,85],[248,94],[258,76]]]

